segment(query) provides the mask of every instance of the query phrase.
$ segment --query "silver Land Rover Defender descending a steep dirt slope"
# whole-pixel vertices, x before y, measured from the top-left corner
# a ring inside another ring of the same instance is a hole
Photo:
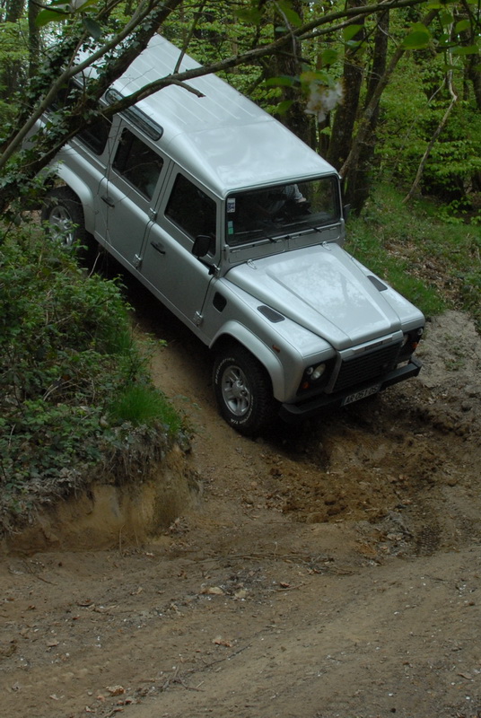
[[[171,74],[179,54],[155,37],[103,102]],[[67,144],[43,218],[66,241],[92,234],[212,349],[220,413],[240,433],[415,376],[424,316],[342,249],[337,171],[218,77],[189,84]]]

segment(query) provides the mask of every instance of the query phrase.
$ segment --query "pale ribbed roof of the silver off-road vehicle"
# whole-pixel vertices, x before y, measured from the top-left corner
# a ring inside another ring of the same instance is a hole
[[[180,50],[160,35],[113,87],[127,95],[171,74]],[[184,56],[181,70],[198,67]],[[280,122],[214,74],[188,81],[197,97],[170,85],[138,102],[163,128],[158,146],[214,194],[335,172]]]

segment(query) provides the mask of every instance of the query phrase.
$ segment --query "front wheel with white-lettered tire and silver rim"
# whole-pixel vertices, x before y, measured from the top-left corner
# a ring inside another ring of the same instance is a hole
[[[266,370],[242,346],[214,361],[214,390],[227,424],[246,436],[265,428],[275,416],[275,399]]]

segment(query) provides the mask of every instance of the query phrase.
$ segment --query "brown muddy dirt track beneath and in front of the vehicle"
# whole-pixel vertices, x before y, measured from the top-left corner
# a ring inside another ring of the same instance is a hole
[[[83,550],[74,513],[4,545],[4,718],[480,716],[468,318],[430,323],[418,379],[254,442],[217,416],[204,348],[145,302],[139,330],[168,341],[156,381],[196,431],[194,488],[147,541],[112,538],[106,500]],[[111,547],[95,550],[102,531]]]

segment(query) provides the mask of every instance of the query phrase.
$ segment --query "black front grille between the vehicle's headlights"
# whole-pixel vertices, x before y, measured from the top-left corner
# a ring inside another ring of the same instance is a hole
[[[345,359],[339,367],[332,391],[341,391],[382,377],[397,363],[400,346],[400,343],[381,346],[372,352]]]

